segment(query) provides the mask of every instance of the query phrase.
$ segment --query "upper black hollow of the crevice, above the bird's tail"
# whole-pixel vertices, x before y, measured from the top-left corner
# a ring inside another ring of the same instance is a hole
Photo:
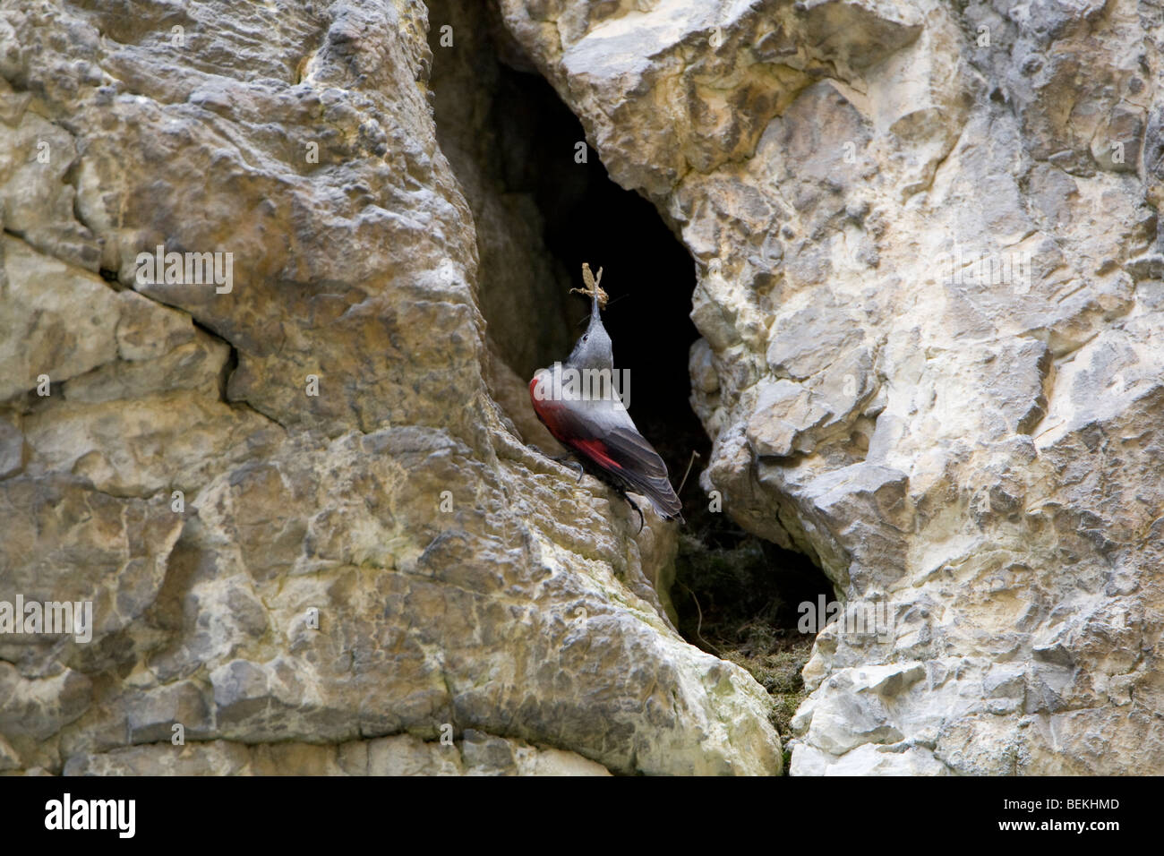
[[[631,370],[634,418],[677,420],[677,433],[702,433],[691,409],[675,406],[689,394],[687,354],[698,338],[688,314],[695,289],[691,256],[650,201],[611,181],[594,149],[587,146],[585,161],[577,162],[576,147],[585,142],[582,125],[544,78],[499,68],[491,119],[501,132],[501,150],[541,155],[506,157],[501,164],[505,186],[533,197],[546,247],[572,284],[582,284],[582,262],[595,271],[603,268],[602,285],[610,293],[603,323],[615,342],[616,365]],[[530,146],[531,140],[537,142]],[[576,338],[588,307],[581,296],[563,299],[577,304]],[[677,462],[667,464],[674,474]]]

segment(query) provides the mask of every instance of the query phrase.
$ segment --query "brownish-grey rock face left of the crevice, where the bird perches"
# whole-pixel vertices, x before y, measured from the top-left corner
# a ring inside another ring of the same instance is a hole
[[[427,28],[0,0],[0,601],[93,610],[0,635],[0,770],[781,770],[647,582],[674,532],[490,394],[478,260],[533,232],[467,201]]]

